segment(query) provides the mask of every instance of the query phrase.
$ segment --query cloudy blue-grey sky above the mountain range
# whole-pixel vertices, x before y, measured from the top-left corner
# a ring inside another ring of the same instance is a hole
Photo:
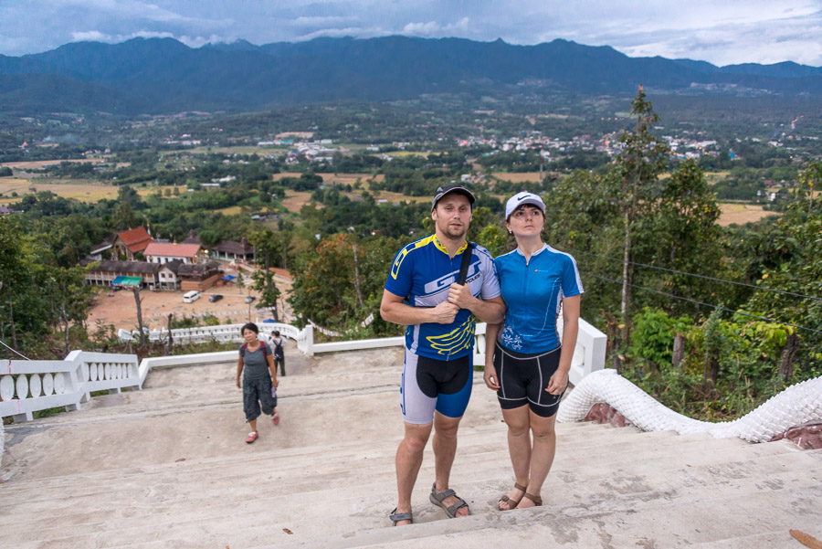
[[[0,0],[0,54],[79,40],[253,44],[314,37],[554,38],[632,57],[822,66],[822,0]]]

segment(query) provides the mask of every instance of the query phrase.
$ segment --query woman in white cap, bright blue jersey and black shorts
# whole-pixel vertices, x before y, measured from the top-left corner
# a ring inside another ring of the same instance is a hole
[[[486,328],[485,385],[497,391],[508,425],[516,481],[498,503],[501,511],[542,505],[540,492],[553,463],[554,423],[579,330],[583,292],[576,261],[543,243],[545,205],[528,192],[511,196],[505,227],[517,248],[494,259],[505,320]],[[563,335],[556,330],[563,313]],[[532,440],[533,435],[533,440]]]

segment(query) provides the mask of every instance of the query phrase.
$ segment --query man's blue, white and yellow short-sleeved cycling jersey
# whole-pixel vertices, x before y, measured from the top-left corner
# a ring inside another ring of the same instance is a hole
[[[448,300],[448,288],[457,281],[462,254],[468,244],[459,248],[453,259],[437,235],[417,240],[396,254],[385,290],[404,298],[412,307],[435,307]],[[490,300],[501,294],[500,283],[490,253],[474,246],[466,284],[471,294]],[[454,322],[425,322],[406,328],[406,348],[414,354],[452,360],[465,356],[474,346],[474,317],[468,309],[460,309]]]

